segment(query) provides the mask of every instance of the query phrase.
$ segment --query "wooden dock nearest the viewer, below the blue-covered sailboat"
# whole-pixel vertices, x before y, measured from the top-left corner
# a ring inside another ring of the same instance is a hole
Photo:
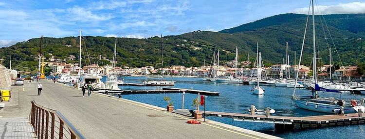
[[[287,131],[294,129],[319,128],[328,126],[343,126],[350,124],[364,124],[365,117],[358,117],[359,114],[346,115],[323,115],[310,117],[282,117],[265,115],[250,115],[238,113],[223,113],[207,111],[203,116],[232,118],[236,121],[274,123],[275,130]],[[365,115],[365,114],[364,114]]]

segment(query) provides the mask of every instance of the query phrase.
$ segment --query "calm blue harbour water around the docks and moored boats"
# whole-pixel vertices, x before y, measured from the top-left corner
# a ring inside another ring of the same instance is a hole
[[[103,78],[105,80],[105,78]],[[125,82],[142,83],[146,80],[146,77],[125,77]],[[251,94],[251,85],[242,84],[227,84],[227,83],[216,83],[207,82],[202,78],[165,78],[166,80],[176,80],[175,88],[186,88],[186,89],[197,89],[219,92],[219,96],[208,96],[206,99],[206,110],[207,111],[218,111],[218,112],[231,112],[231,113],[244,113],[247,108],[250,108],[251,104],[256,105],[257,109],[264,110],[266,107],[275,109],[277,115],[282,116],[316,116],[326,115],[325,113],[318,113],[307,111],[296,108],[292,102],[291,95],[293,88],[280,88],[262,86],[265,89],[263,96],[257,96]],[[125,90],[156,90],[160,87],[156,86],[120,86],[119,88]],[[298,95],[310,95],[309,90],[299,89],[296,91]],[[336,93],[320,93],[320,96],[324,97],[336,97],[339,98],[339,94]],[[122,98],[135,100],[159,107],[166,107],[167,102],[163,100],[164,96],[171,97],[174,101],[175,109],[182,108],[182,93],[172,94],[132,94],[123,95]],[[185,93],[184,109],[194,109],[192,107],[193,99],[197,98],[197,94]],[[343,98],[365,98],[363,95],[351,95],[343,94]],[[201,107],[203,110],[203,107]],[[365,137],[365,125],[348,125],[341,127],[328,127],[319,129],[307,129],[295,132],[274,132],[274,124],[270,123],[256,123],[256,122],[243,122],[233,121],[229,118],[217,118],[209,117],[207,119],[216,120],[226,124],[255,130],[258,132],[278,136],[286,139],[320,139],[320,138],[359,138]],[[362,138],[363,139],[363,138]]]

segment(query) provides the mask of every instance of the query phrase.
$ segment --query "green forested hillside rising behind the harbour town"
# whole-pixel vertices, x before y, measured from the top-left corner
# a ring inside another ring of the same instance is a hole
[[[364,61],[365,41],[365,15],[364,14],[342,14],[324,16],[333,41],[336,44],[339,57],[345,65],[354,65]],[[285,57],[285,43],[289,43],[289,55],[291,64],[296,51],[297,62],[302,45],[307,15],[282,14],[268,17],[255,22],[243,24],[231,29],[219,32],[198,31],[176,36],[165,36],[164,41],[164,66],[184,65],[201,66],[209,65],[214,51],[220,50],[221,64],[224,61],[233,60],[235,48],[238,47],[239,60],[256,59],[256,42],[262,53],[265,66],[278,64]],[[332,47],[333,60],[339,63],[339,58],[333,43],[329,44],[324,39],[329,38],[325,20],[316,16],[316,40],[318,57],[322,58],[319,64],[327,64],[329,61],[328,45]],[[311,25],[311,18],[310,18]],[[305,40],[304,63],[310,64],[312,57],[312,33],[311,26],[308,27],[307,39]],[[324,33],[326,32],[326,33]],[[362,39],[361,39],[362,38]],[[90,59],[83,60],[86,63],[99,63],[100,65],[110,64],[107,60],[99,60],[101,57],[112,59],[115,38],[106,37],[82,37],[83,46],[86,46]],[[25,42],[18,42],[9,47],[0,48],[0,58],[5,66],[8,66],[12,53],[13,67],[22,71],[37,70],[37,51],[39,49],[39,38]],[[71,45],[67,47],[66,45]],[[65,38],[43,38],[42,53],[46,58],[51,57],[66,59],[69,55],[78,59],[78,37]],[[87,56],[85,49],[82,57]],[[152,37],[148,39],[118,38],[117,60],[119,66],[142,67],[152,65],[161,67],[161,39]],[[73,62],[73,61],[68,61]]]

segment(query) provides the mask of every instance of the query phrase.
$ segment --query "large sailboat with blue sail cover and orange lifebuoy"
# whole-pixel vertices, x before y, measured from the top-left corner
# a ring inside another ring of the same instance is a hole
[[[311,96],[298,96],[295,95],[296,86],[294,86],[294,91],[292,95],[293,102],[295,105],[299,108],[310,110],[310,111],[316,111],[316,112],[323,112],[323,113],[332,113],[332,114],[347,114],[347,113],[358,113],[358,112],[365,112],[364,109],[364,99],[361,101],[352,99],[345,101],[341,97],[340,99],[334,99],[334,98],[323,98],[318,96],[318,91],[325,91],[325,92],[335,92],[340,93],[340,91],[337,90],[330,90],[323,87],[320,87],[317,83],[317,67],[316,67],[316,42],[315,42],[315,22],[314,22],[314,0],[311,0],[311,6],[312,6],[312,28],[313,28],[313,79],[315,87],[312,89],[312,95]],[[300,63],[302,60],[302,54],[303,54],[303,48],[304,48],[304,42],[305,37],[307,33],[307,27],[308,27],[308,20],[309,15],[307,17],[307,25],[303,37],[303,43],[302,43],[302,49],[301,49],[301,56],[299,60],[298,66],[300,67]],[[298,67],[298,69],[300,69]],[[296,77],[295,77],[295,83],[298,81],[298,73],[297,71]],[[359,103],[358,103],[359,102]]]

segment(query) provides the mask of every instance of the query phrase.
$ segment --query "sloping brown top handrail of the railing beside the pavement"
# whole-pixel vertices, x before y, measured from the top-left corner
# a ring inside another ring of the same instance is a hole
[[[77,139],[86,139],[72,124],[71,122],[66,119],[59,111],[54,110],[54,109],[50,109],[50,108],[46,108],[42,105],[39,105],[36,103],[35,100],[32,101],[34,103],[35,106],[44,109],[48,112],[54,113],[60,120],[62,120],[62,122],[69,128],[70,132],[73,133],[73,135],[77,138]]]

